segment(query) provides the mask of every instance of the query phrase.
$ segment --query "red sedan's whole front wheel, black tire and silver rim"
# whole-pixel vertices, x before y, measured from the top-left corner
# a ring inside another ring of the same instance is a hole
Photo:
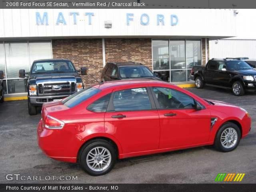
[[[234,123],[228,122],[218,130],[214,146],[222,152],[230,152],[238,146],[240,138],[239,127]]]

